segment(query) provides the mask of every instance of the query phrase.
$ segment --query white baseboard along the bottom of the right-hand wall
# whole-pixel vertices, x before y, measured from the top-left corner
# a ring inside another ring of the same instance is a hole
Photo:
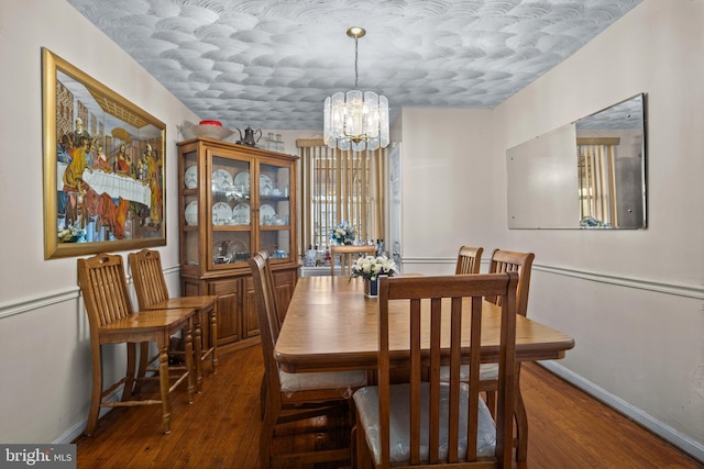
[[[634,407],[628,402],[617,398],[603,388],[600,388],[593,382],[570,371],[556,361],[540,361],[540,365],[554,375],[559,376],[563,380],[574,384],[576,388],[592,395],[594,399],[603,402],[620,414],[626,415],[628,418],[648,428],[650,432],[654,433],[673,446],[676,446],[679,449],[697,459],[698,461],[704,462],[704,445],[702,445],[701,443],[689,438],[686,435],[683,435],[671,426],[664,425],[662,422],[657,421],[641,410]]]

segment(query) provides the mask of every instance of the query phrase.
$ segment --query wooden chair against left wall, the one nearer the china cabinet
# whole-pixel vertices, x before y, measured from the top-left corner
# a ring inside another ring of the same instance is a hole
[[[210,358],[213,375],[218,372],[218,295],[195,295],[169,298],[162,257],[158,250],[142,249],[130,253],[130,272],[134,282],[134,291],[140,310],[191,308],[196,310],[194,317],[194,349],[196,357],[196,389],[201,390],[202,362]],[[205,330],[202,324],[209,325]],[[205,345],[205,346],[204,346]],[[174,355],[176,350],[172,350]],[[147,364],[146,347],[140,354],[140,375],[144,376]]]

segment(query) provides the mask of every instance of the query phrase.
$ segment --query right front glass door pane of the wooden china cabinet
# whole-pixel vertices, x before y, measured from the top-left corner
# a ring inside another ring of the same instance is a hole
[[[290,256],[290,167],[273,164],[260,165],[258,222],[260,250],[272,259]]]

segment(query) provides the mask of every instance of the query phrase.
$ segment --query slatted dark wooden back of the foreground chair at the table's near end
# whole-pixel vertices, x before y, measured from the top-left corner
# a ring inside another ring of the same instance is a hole
[[[382,277],[378,297],[378,412],[381,467],[391,465],[391,357],[388,343],[389,315],[409,314],[409,465],[460,464],[477,460],[479,376],[482,358],[483,298],[502,299],[499,344],[499,405],[495,459],[497,466],[510,467],[515,371],[516,272],[443,277]],[[396,300],[406,300],[402,309]],[[394,306],[389,308],[389,302]],[[469,325],[469,327],[468,327]],[[441,381],[440,367],[449,366],[449,382]],[[460,381],[462,366],[470,367],[470,384]],[[421,369],[427,369],[426,376]],[[428,389],[425,402],[421,390]],[[469,400],[461,399],[469,390]],[[448,399],[444,411],[441,399]],[[462,409],[466,405],[466,409]],[[421,418],[427,406],[428,420]],[[461,425],[466,415],[466,431]],[[422,425],[428,425],[424,428]],[[463,434],[463,432],[466,432]],[[428,435],[421,442],[421,434]],[[466,438],[466,451],[461,457],[460,442]],[[443,454],[442,444],[448,445]],[[421,445],[428,445],[427,460],[421,460]]]

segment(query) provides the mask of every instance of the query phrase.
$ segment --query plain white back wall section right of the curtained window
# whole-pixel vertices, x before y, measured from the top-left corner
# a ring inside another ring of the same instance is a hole
[[[492,241],[492,111],[405,109],[402,118],[404,271],[451,273],[462,244]]]

